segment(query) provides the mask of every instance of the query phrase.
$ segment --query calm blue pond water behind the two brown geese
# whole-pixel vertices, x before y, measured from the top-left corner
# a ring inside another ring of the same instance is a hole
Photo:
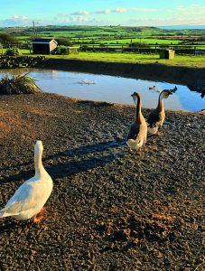
[[[154,108],[157,105],[159,91],[149,88],[156,86],[157,89],[173,89],[176,86],[176,92],[164,101],[166,109],[199,111],[205,108],[205,98],[201,93],[191,91],[187,86],[168,82],[36,69],[0,70],[0,78],[6,74],[16,75],[26,72],[29,72],[29,75],[36,79],[36,84],[44,92],[58,93],[72,98],[133,105],[130,95],[136,90],[141,94],[142,106]]]

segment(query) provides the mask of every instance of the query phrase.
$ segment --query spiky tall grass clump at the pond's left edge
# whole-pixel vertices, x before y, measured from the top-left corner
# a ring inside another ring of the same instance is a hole
[[[7,75],[0,79],[0,95],[14,95],[14,94],[34,94],[42,92],[36,84],[35,80],[28,76],[17,75],[9,78]]]

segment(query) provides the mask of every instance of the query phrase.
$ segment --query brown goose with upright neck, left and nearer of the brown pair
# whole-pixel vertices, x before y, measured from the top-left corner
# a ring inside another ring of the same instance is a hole
[[[130,147],[130,150],[140,151],[141,147],[146,142],[147,126],[141,112],[141,97],[137,92],[132,95],[134,99],[135,109],[135,121],[129,128],[128,135],[126,136],[126,144]],[[137,102],[136,102],[137,100]]]

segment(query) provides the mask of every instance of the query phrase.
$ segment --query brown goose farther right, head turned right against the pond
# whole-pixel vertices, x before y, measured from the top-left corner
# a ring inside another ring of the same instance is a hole
[[[174,88],[175,90],[175,88]],[[158,100],[158,105],[156,109],[149,115],[147,118],[147,128],[148,133],[151,135],[160,135],[159,130],[163,126],[163,121],[165,118],[165,112],[163,107],[163,99],[168,98],[172,94],[172,90],[164,89],[160,95]]]

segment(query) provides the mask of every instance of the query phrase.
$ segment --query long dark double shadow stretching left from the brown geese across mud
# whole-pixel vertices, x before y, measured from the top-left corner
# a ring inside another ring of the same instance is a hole
[[[115,141],[107,141],[95,145],[84,145],[77,148],[68,149],[57,154],[47,155],[42,159],[42,163],[53,179],[70,176],[80,172],[86,172],[89,169],[102,167],[116,159],[116,155],[123,157],[120,147],[126,145],[125,139],[116,138]],[[116,154],[112,151],[119,148]],[[105,154],[104,152],[109,151]],[[104,154],[103,154],[104,153]],[[59,162],[62,160],[62,162]],[[52,162],[51,162],[52,161]],[[57,163],[56,163],[57,161]],[[28,163],[16,164],[15,168],[32,165],[33,161]],[[5,168],[6,169],[6,168]],[[0,183],[18,182],[19,180],[28,180],[34,174],[34,169],[4,177]]]

